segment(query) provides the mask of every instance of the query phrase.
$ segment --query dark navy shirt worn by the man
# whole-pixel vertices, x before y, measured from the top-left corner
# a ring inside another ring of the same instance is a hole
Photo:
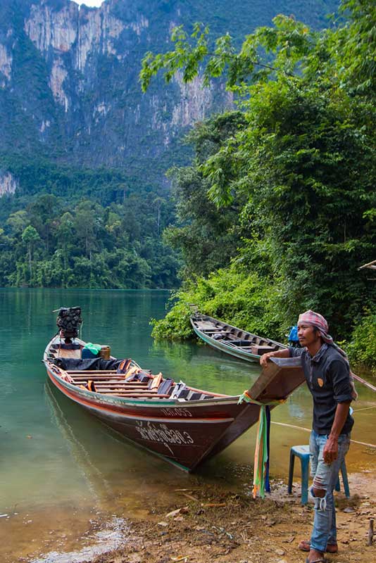
[[[313,396],[313,430],[330,434],[338,403],[352,400],[349,364],[334,348],[323,344],[313,356],[306,348],[289,348],[290,358],[301,356],[304,375]],[[353,418],[347,415],[341,434],[349,434]]]

